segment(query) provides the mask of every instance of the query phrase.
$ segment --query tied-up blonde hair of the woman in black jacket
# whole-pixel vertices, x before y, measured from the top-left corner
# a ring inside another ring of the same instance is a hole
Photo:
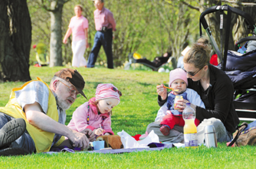
[[[193,44],[191,49],[185,54],[183,62],[193,64],[196,68],[210,64],[211,45],[206,38],[200,38]]]

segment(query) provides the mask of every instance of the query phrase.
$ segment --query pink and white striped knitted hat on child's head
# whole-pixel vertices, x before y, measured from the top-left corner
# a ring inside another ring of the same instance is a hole
[[[98,84],[96,88],[95,100],[114,98],[114,99],[118,99],[118,104],[119,104],[120,102],[119,93],[121,92],[113,84]]]

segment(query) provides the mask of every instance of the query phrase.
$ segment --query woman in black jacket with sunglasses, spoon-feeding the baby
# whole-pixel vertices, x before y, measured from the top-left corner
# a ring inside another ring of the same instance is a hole
[[[200,38],[184,56],[184,70],[187,73],[188,88],[198,92],[205,104],[205,109],[191,104],[196,110],[196,117],[201,122],[197,127],[199,143],[204,142],[204,127],[215,127],[217,141],[230,141],[232,133],[239,124],[239,118],[233,105],[233,84],[229,77],[220,69],[210,64],[211,47],[209,41]],[[159,85],[158,104],[162,106],[167,100],[167,90]],[[188,100],[182,99],[178,104],[184,109]],[[169,136],[163,136],[159,131],[160,122],[148,125],[159,136],[160,141],[183,142],[183,127],[175,126]]]

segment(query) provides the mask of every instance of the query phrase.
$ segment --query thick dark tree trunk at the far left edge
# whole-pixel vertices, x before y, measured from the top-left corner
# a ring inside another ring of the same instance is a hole
[[[0,0],[0,81],[29,81],[31,21],[26,0]]]

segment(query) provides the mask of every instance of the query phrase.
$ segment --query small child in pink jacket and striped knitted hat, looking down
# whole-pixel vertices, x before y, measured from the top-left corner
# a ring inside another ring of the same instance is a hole
[[[113,84],[99,84],[95,96],[74,111],[68,127],[79,132],[89,128],[98,136],[114,135],[112,109],[119,104],[122,93]]]

